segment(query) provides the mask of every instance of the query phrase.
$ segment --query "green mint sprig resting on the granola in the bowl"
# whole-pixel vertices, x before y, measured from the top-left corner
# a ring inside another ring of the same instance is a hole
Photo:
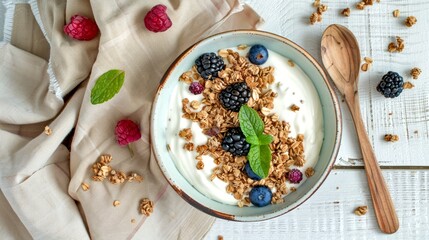
[[[258,113],[247,105],[241,106],[238,120],[241,131],[246,136],[246,142],[250,144],[247,154],[250,168],[259,177],[266,178],[271,162],[271,150],[268,145],[273,141],[273,137],[263,134],[264,122]]]

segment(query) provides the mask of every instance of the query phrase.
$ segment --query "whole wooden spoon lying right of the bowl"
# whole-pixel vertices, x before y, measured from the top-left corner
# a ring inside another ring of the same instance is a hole
[[[323,65],[344,95],[355,123],[378,225],[381,231],[394,233],[399,228],[398,217],[360,113],[357,83],[361,58],[357,40],[346,27],[333,24],[323,33],[321,50]]]

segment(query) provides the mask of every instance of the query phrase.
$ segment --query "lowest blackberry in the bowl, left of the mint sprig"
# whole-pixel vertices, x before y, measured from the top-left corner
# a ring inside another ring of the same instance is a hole
[[[250,144],[239,127],[230,128],[222,140],[223,150],[234,156],[246,156],[250,150]]]

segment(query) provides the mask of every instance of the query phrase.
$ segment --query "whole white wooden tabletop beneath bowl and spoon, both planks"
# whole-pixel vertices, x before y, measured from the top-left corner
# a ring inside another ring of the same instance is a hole
[[[304,47],[320,61],[320,39],[333,23],[351,29],[360,44],[361,56],[372,57],[368,72],[361,72],[359,92],[363,120],[383,175],[391,191],[400,221],[398,232],[383,234],[377,225],[363,170],[354,126],[345,103],[343,136],[336,168],[322,187],[299,208],[281,217],[257,223],[216,220],[206,239],[429,239],[429,0],[381,0],[365,10],[358,1],[326,0],[323,21],[309,24],[315,11],[311,0],[245,0],[264,19],[262,30],[285,36]],[[350,17],[340,15],[351,8]],[[393,10],[400,10],[394,18]],[[407,16],[417,18],[412,28],[404,25]],[[400,36],[402,53],[389,53],[387,45]],[[418,80],[410,69],[419,67]],[[396,99],[385,99],[375,90],[389,70],[400,73],[415,87]],[[399,135],[395,143],[384,134]],[[368,205],[364,216],[354,209]]]

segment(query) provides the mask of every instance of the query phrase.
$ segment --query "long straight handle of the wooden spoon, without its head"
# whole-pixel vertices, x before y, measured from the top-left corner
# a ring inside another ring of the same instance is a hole
[[[381,231],[394,233],[399,229],[398,216],[362,121],[358,95],[351,95],[354,96],[346,96],[346,102],[355,122],[375,216]]]

